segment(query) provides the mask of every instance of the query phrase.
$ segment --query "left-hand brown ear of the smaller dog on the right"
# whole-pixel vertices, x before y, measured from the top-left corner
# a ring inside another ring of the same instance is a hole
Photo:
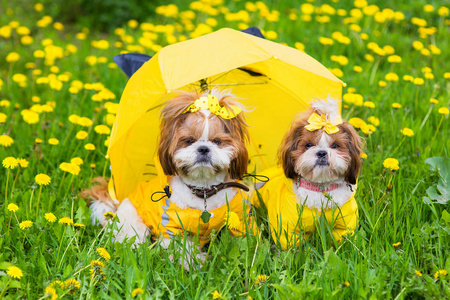
[[[303,127],[306,125],[307,123],[304,120],[293,122],[278,149],[278,160],[283,166],[284,174],[287,178],[294,179],[297,177],[293,153],[297,150],[298,143],[302,138]]]

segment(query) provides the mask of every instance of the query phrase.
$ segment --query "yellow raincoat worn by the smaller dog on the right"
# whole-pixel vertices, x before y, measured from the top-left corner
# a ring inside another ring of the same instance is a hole
[[[302,238],[315,232],[318,218],[325,217],[333,226],[333,236],[337,241],[343,235],[352,234],[358,222],[358,206],[354,193],[341,207],[320,210],[297,203],[293,192],[293,180],[284,175],[281,167],[270,168],[261,173],[270,180],[258,192],[267,208],[272,238],[284,249],[298,246]],[[255,192],[251,202],[259,207],[260,202]]]

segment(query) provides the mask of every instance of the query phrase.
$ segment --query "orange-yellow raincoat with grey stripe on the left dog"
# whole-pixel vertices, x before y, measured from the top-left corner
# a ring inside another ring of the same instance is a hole
[[[203,223],[200,219],[203,212],[201,210],[181,209],[168,197],[157,202],[150,199],[154,192],[163,191],[168,182],[169,178],[166,176],[156,177],[148,182],[140,182],[128,197],[151,230],[152,238],[157,238],[159,235],[172,238],[174,235],[183,235],[185,230],[193,236],[198,235],[200,245],[203,247],[209,242],[211,231],[213,229],[220,230],[227,223],[228,211],[235,212],[240,222],[240,226],[229,228],[231,234],[241,236],[245,234],[246,225],[251,228],[250,203],[242,191],[239,190],[228,204],[210,210],[211,219],[208,223]],[[246,222],[244,222],[244,218],[247,218]]]

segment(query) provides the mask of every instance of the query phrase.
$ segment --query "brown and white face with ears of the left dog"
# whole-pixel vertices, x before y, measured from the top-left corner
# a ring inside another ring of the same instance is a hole
[[[158,155],[164,172],[199,180],[219,173],[227,173],[231,179],[241,178],[248,163],[243,113],[232,119],[223,119],[209,110],[183,114],[197,98],[196,94],[183,93],[171,99],[162,111]],[[226,96],[217,98],[221,106],[236,104]]]

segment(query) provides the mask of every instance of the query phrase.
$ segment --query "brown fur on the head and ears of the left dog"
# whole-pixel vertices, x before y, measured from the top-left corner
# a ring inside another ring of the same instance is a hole
[[[186,147],[186,141],[190,138],[200,138],[204,128],[205,116],[202,113],[182,112],[200,96],[195,93],[182,92],[179,96],[170,99],[161,112],[160,140],[158,156],[166,175],[177,175],[173,155],[177,149]],[[228,107],[240,104],[230,97],[219,99],[221,106]],[[248,152],[245,143],[248,137],[248,129],[245,123],[244,113],[239,113],[235,118],[223,119],[217,115],[209,116],[210,141],[220,139],[220,147],[233,146],[237,149],[229,168],[231,179],[239,179],[247,172]]]

